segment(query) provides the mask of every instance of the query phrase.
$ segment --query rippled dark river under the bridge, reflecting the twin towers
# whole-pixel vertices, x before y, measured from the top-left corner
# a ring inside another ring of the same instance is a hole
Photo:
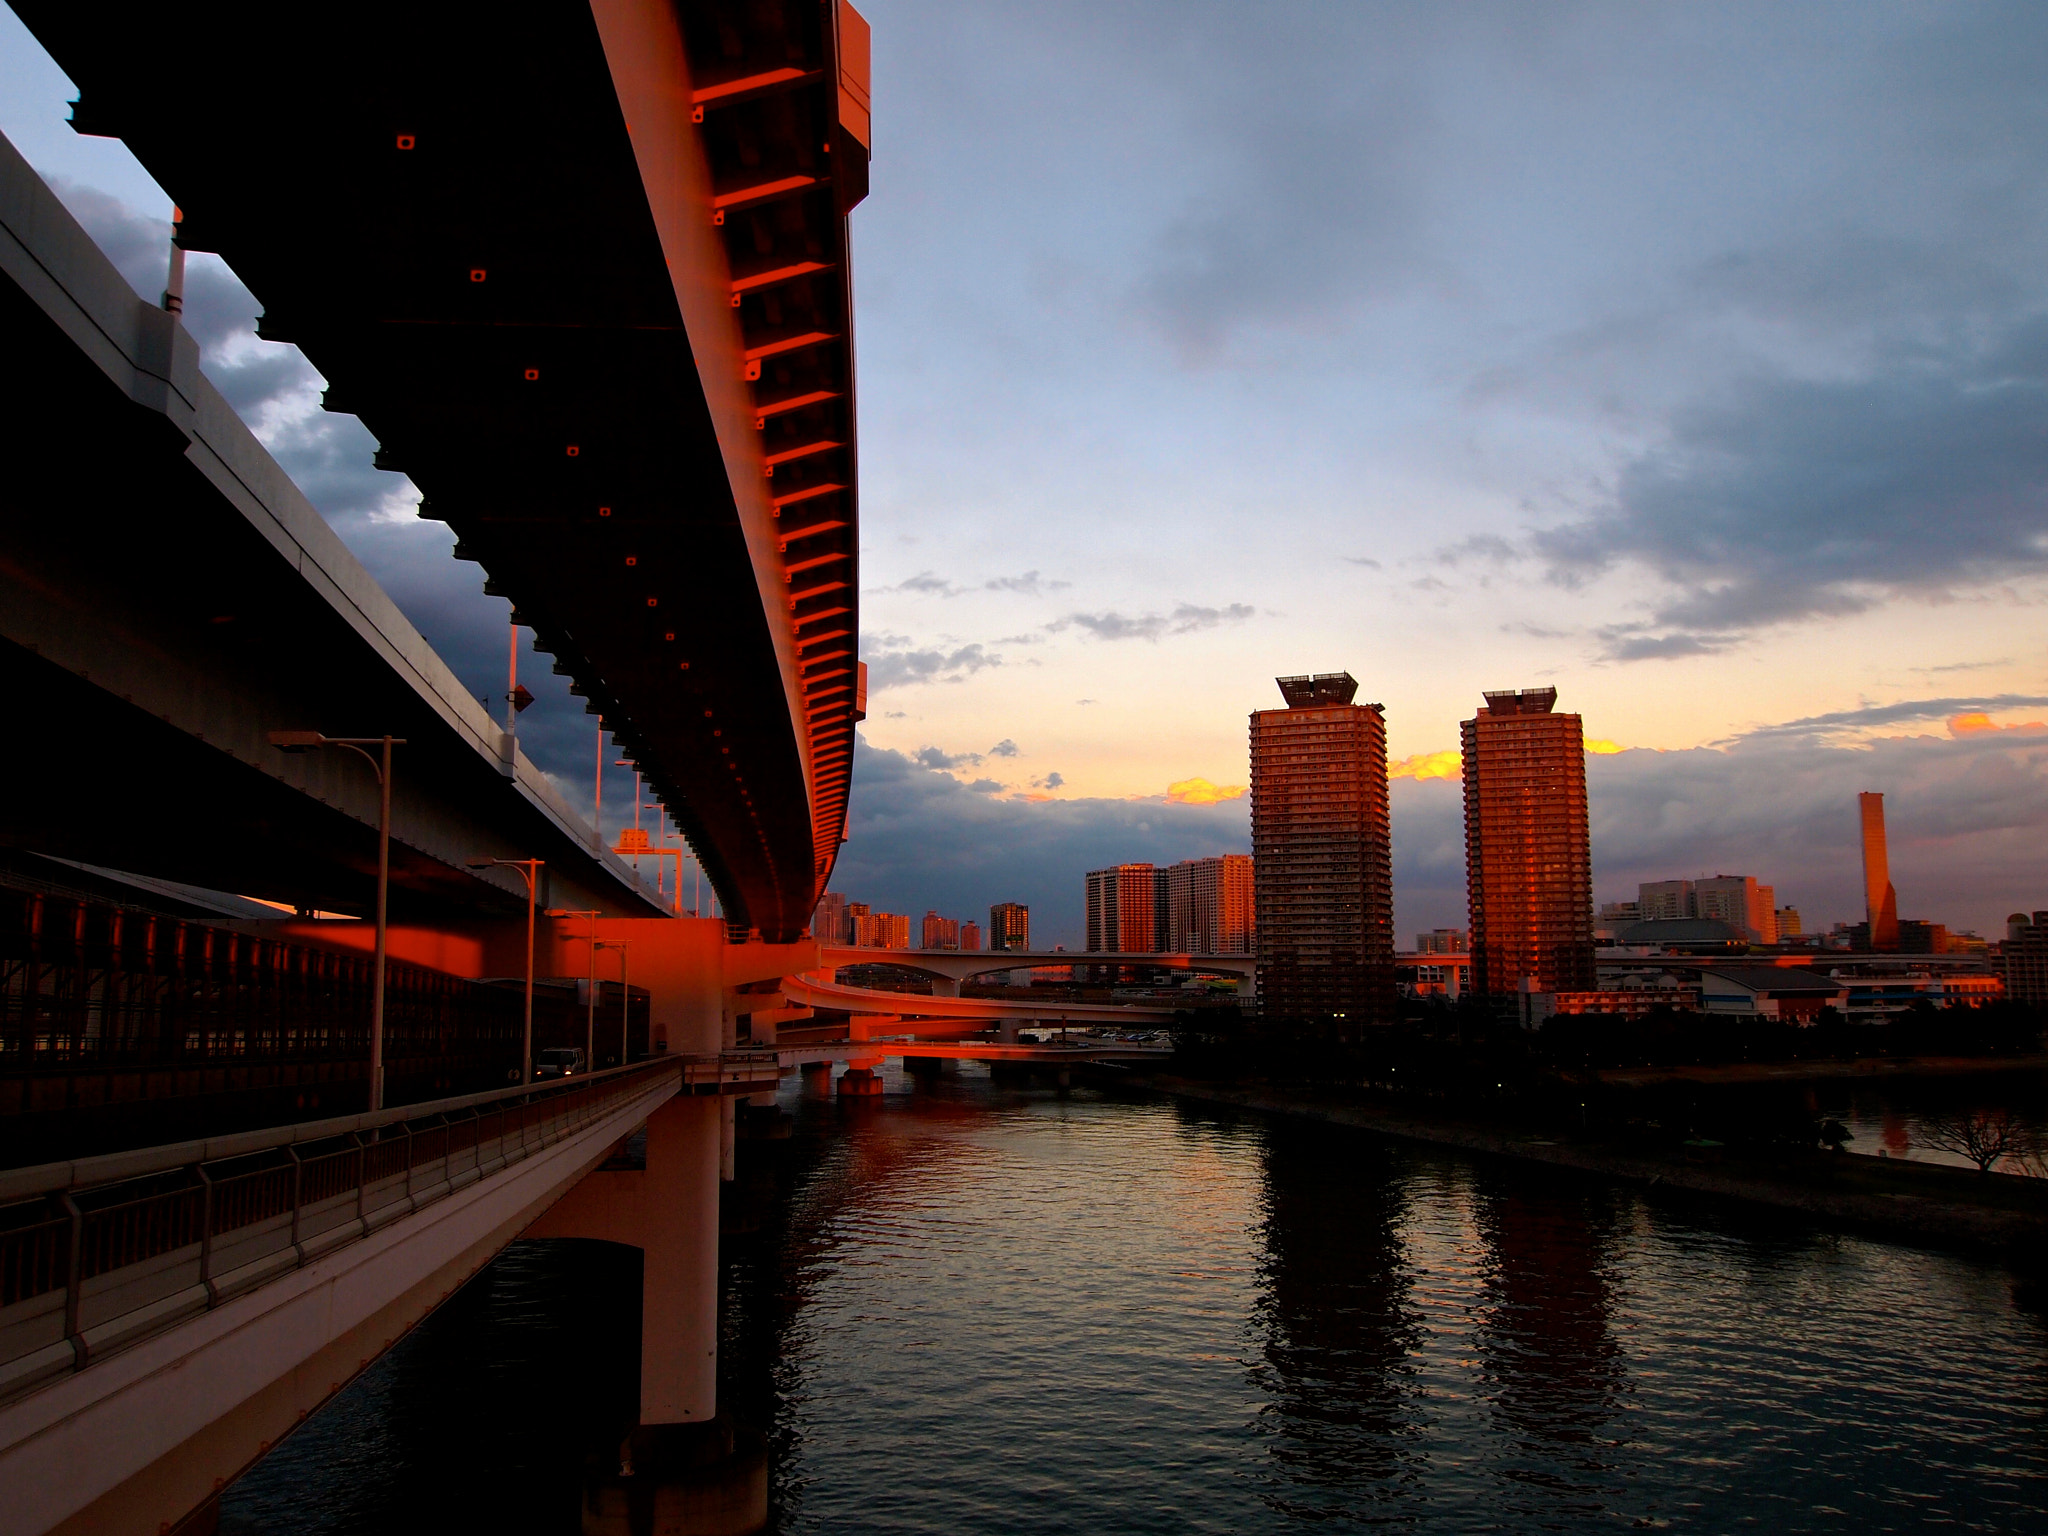
[[[727,1239],[782,1532],[2048,1530],[2048,1327],[1995,1266],[977,1069],[791,1087]],[[223,1532],[575,1530],[635,1264],[518,1245]]]

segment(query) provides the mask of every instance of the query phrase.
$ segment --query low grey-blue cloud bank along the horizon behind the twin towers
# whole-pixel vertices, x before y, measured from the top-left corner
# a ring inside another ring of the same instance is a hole
[[[1993,700],[1925,700],[1946,705]],[[1817,717],[1821,719],[1821,717]],[[987,795],[895,752],[858,745],[854,809],[834,889],[893,911],[975,915],[1032,905],[1032,932],[1079,946],[1081,877],[1122,860],[1174,862],[1249,848],[1243,799],[1026,801]],[[1042,784],[1057,786],[1047,774]],[[1735,748],[1587,758],[1602,901],[1642,881],[1753,874],[1808,926],[1862,918],[1855,795],[1882,791],[1901,911],[1995,934],[2048,905],[2048,735],[1890,737],[1827,745],[1757,737]],[[1464,799],[1456,780],[1391,784],[1401,942],[1464,926]]]

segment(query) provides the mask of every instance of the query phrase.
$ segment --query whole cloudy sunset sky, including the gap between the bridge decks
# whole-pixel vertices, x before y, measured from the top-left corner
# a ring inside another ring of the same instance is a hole
[[[862,8],[838,889],[1077,946],[1085,868],[1247,846],[1245,715],[1348,670],[1403,932],[1464,922],[1442,754],[1530,684],[1622,748],[1599,899],[1724,870],[1858,920],[1876,788],[1901,915],[2048,907],[2048,10]],[[168,197],[72,94],[0,12],[0,131],[156,297]],[[209,373],[502,692],[504,604],[254,313],[195,258]],[[588,801],[580,700],[522,680]]]

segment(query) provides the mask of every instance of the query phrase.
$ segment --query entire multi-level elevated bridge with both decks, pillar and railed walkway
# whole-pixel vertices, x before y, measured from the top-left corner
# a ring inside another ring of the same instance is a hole
[[[659,915],[233,418],[176,315],[0,158],[0,336],[33,379],[6,418],[27,473],[0,522],[0,674],[63,743],[8,754],[6,846],[367,911],[375,793],[266,733],[391,731],[393,956],[516,977],[524,887],[471,858],[543,858],[549,903],[598,915],[547,926],[541,975],[631,956],[651,1053],[8,1174],[0,1532],[205,1530],[225,1481],[522,1231],[647,1255],[641,1427],[586,1528],[625,1530],[635,1501],[688,1528],[705,1497],[745,1528],[760,1468],[692,1434],[717,1409],[731,1104],[780,1071],[741,1020],[815,967],[799,940],[864,709],[846,219],[866,25],[838,0],[16,12],[80,86],[74,127],[133,150],[178,244],[219,252],[258,334],[303,348],[326,408],[369,426],[602,715],[725,922]],[[154,913],[86,944],[74,905],[78,952],[217,985]],[[215,926],[199,950],[317,979],[311,950],[358,956],[365,930]],[[27,1065],[6,1071],[111,1044],[90,1008],[45,1028],[41,983],[14,985],[37,975],[8,971]],[[645,1167],[606,1169],[637,1128]]]

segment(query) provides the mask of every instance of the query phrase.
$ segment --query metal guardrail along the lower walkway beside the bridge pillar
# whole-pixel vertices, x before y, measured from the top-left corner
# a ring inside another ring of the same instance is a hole
[[[0,1171],[0,1401],[369,1237],[600,1118],[678,1057]],[[680,1069],[680,1071],[678,1071]]]

